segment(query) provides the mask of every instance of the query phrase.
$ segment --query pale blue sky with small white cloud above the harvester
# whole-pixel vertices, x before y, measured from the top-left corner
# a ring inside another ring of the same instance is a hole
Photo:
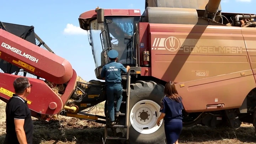
[[[254,14],[256,0],[222,0],[223,12]],[[79,27],[78,17],[97,6],[104,9],[140,9],[144,0],[9,0],[1,2],[0,21],[33,25],[38,36],[67,59],[84,80],[96,79],[94,59],[87,32]]]

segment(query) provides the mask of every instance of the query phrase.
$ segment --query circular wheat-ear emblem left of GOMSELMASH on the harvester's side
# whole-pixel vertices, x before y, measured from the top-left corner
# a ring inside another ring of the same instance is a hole
[[[176,37],[168,37],[165,39],[165,48],[171,52],[180,49],[180,41]]]

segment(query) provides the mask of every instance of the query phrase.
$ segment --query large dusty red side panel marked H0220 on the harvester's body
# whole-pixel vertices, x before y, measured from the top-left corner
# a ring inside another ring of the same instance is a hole
[[[239,108],[256,87],[247,54],[255,55],[256,50],[250,50],[255,41],[242,31],[241,27],[149,24],[151,75],[176,83],[187,112]],[[207,107],[219,104],[224,106]]]

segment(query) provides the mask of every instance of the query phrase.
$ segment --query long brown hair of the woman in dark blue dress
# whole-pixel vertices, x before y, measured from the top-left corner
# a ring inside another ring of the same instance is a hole
[[[178,95],[176,86],[173,81],[169,81],[165,84],[164,94],[165,96],[169,97],[171,100],[181,102],[182,98],[180,95]]]

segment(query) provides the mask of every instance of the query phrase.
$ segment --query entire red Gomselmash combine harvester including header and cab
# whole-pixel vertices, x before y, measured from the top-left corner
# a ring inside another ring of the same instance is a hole
[[[122,75],[122,115],[111,127],[115,137],[108,136],[106,125],[105,138],[165,144],[164,126],[158,127],[156,119],[167,81],[174,81],[183,97],[184,127],[237,129],[241,122],[256,127],[255,17],[221,12],[220,0],[145,0],[142,16],[132,9],[96,8],[81,14],[97,79],[111,49],[119,52],[120,63],[131,66]],[[2,23],[1,29],[1,100],[9,100],[12,82],[22,73],[34,87],[28,97],[33,117],[48,120],[61,114],[107,123],[107,116],[83,112],[106,100],[104,82],[78,81],[67,60],[39,48],[33,27]],[[59,87],[58,94],[53,86]]]

